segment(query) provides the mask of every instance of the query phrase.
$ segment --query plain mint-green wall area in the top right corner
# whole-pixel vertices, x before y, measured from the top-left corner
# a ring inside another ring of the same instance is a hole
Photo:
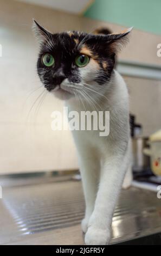
[[[95,0],[84,16],[161,34],[161,0]]]

